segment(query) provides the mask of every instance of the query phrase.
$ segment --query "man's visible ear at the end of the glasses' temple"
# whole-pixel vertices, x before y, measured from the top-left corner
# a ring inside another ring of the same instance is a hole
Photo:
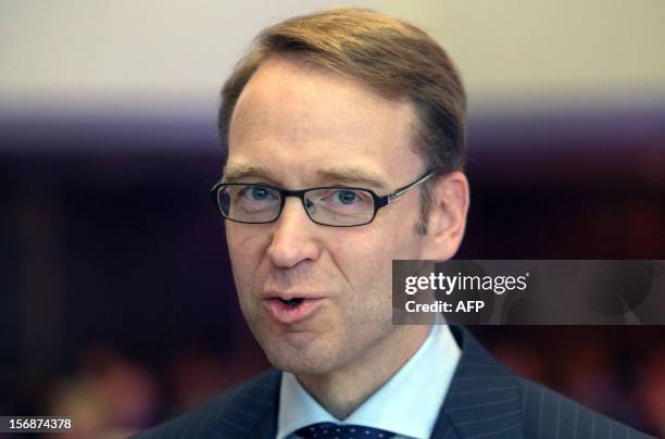
[[[455,171],[439,177],[434,185],[423,259],[449,260],[457,252],[466,228],[468,180]]]

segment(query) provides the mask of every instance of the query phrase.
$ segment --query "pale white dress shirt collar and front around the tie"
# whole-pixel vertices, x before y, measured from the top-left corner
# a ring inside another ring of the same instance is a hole
[[[380,428],[397,434],[396,439],[429,438],[460,355],[448,325],[432,325],[406,364],[343,421],[328,413],[293,374],[285,372],[279,389],[277,439],[298,438],[296,430],[324,422]]]

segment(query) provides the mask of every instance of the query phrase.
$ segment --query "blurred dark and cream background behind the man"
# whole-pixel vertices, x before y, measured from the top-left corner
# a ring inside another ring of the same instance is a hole
[[[1,415],[125,437],[267,367],[208,193],[218,91],[261,28],[330,4],[0,0]],[[463,73],[460,258],[665,259],[665,2],[347,4],[424,27]],[[665,327],[472,330],[665,437]]]

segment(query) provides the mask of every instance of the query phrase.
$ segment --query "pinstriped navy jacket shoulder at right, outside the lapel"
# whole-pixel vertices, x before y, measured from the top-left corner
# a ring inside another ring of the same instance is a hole
[[[526,378],[516,377],[526,437],[652,438]]]

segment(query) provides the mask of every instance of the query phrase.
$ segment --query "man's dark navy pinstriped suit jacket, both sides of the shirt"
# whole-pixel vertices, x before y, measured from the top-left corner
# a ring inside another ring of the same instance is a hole
[[[432,438],[649,438],[500,365],[463,327],[450,326],[462,356]],[[137,436],[274,438],[280,372],[272,369]]]

